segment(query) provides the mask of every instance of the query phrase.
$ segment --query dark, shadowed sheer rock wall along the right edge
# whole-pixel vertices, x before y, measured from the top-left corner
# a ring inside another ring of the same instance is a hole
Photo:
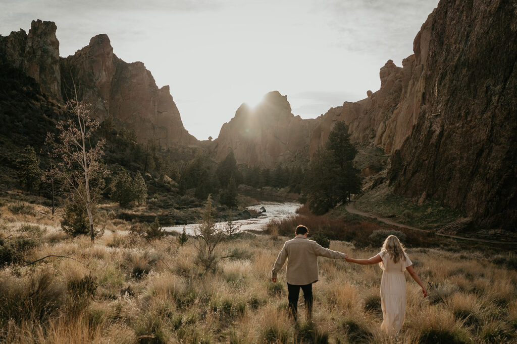
[[[442,0],[433,16],[418,118],[392,158],[394,191],[515,231],[517,7]]]

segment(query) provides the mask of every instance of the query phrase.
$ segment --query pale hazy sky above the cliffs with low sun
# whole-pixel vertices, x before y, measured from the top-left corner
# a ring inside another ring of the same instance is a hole
[[[57,25],[60,55],[97,34],[114,53],[142,61],[171,93],[187,130],[216,138],[241,103],[287,95],[315,118],[381,85],[401,65],[438,0],[0,0],[0,35]]]

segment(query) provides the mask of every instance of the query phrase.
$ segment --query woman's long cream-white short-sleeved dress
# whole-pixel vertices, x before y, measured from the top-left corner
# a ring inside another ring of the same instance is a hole
[[[381,280],[381,307],[383,310],[383,323],[381,329],[384,331],[399,332],[404,323],[406,314],[406,278],[404,271],[413,263],[406,255],[406,260],[400,259],[394,263],[387,252],[379,253],[382,262],[379,263],[383,269]]]

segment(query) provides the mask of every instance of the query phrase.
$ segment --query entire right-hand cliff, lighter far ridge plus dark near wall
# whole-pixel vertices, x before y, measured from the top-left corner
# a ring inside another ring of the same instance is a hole
[[[393,154],[396,193],[517,230],[515,13],[504,0],[441,0],[402,68],[389,60],[378,91],[322,116],[310,154],[345,121],[352,140]]]

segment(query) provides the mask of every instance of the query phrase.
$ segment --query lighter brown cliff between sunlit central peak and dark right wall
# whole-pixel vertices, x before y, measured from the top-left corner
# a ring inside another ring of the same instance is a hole
[[[414,54],[402,61],[402,68],[392,60],[381,68],[378,91],[368,91],[366,99],[345,102],[323,115],[312,134],[311,156],[325,144],[337,121],[345,121],[353,142],[374,143],[387,154],[401,147],[418,117],[433,18],[430,14],[422,25],[413,42]]]

